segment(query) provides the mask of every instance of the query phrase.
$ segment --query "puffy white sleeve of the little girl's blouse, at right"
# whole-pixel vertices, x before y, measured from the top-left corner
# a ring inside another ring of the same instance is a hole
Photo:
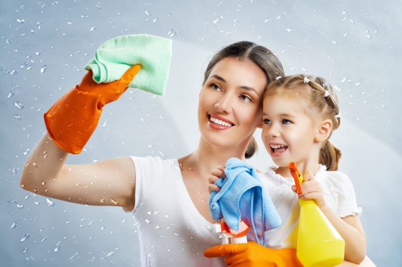
[[[361,207],[357,206],[356,194],[349,177],[340,171],[330,171],[330,191],[337,204],[337,214],[344,218],[349,215],[360,215]]]

